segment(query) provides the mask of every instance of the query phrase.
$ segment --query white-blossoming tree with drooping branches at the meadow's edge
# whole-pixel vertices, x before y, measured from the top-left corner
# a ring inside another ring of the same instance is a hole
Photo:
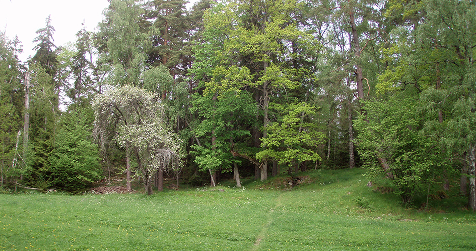
[[[113,87],[93,101],[95,135],[101,146],[111,139],[126,150],[127,189],[130,191],[130,153],[137,159],[145,189],[152,193],[153,172],[180,167],[180,142],[162,119],[162,105],[147,90]],[[112,135],[111,135],[112,134]]]

